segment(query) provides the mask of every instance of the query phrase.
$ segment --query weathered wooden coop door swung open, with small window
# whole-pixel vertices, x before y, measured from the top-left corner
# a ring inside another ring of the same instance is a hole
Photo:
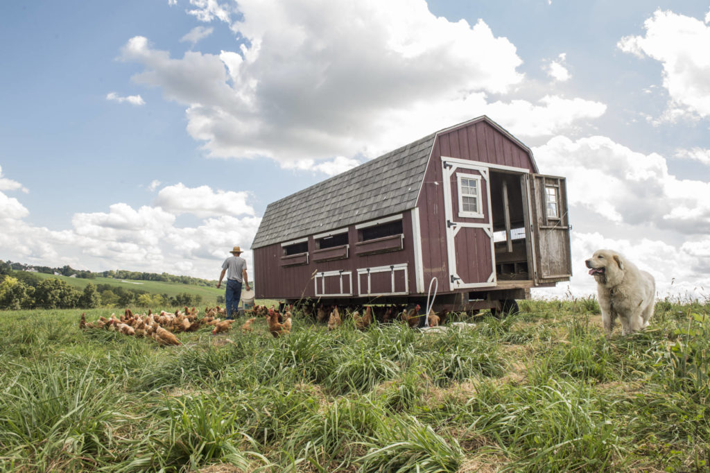
[[[572,249],[569,244],[567,182],[557,176],[530,175],[534,281],[537,284],[569,281]]]

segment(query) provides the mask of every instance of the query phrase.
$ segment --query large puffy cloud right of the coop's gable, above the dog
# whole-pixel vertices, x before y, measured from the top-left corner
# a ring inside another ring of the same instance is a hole
[[[571,205],[616,223],[710,232],[710,183],[678,179],[657,153],[638,153],[604,136],[557,136],[534,151],[540,168],[567,176]]]

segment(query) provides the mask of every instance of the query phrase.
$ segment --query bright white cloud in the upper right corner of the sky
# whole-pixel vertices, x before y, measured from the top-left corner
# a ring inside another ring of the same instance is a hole
[[[617,46],[661,62],[663,87],[670,94],[669,110],[662,119],[710,116],[710,26],[697,18],[657,10],[644,28],[645,36],[625,36]]]

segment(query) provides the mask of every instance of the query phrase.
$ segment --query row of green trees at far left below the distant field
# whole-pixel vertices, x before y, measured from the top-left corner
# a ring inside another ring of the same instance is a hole
[[[138,288],[88,283],[83,290],[58,278],[43,279],[28,271],[13,271],[0,261],[0,309],[91,309],[109,307],[184,307],[202,304],[202,295],[149,293]]]

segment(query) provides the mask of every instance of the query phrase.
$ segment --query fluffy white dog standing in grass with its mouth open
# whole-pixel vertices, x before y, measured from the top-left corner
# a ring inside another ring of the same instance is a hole
[[[621,322],[622,335],[648,327],[655,305],[653,276],[611,250],[595,251],[594,256],[584,263],[597,283],[601,322],[606,335],[611,335],[616,317]]]

